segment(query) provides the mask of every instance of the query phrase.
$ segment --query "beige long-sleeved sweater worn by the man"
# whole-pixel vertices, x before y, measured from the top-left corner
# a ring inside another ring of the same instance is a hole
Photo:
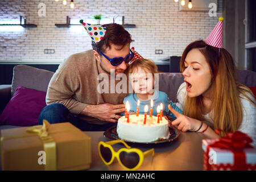
[[[123,104],[123,99],[127,93],[99,93],[97,86],[101,82],[97,77],[100,73],[105,73],[100,63],[95,59],[93,51],[85,51],[69,56],[59,65],[56,73],[49,82],[46,103],[60,103],[66,106],[71,113],[79,115],[86,105],[98,104]],[[115,80],[115,85],[119,80]],[[90,123],[103,124],[98,119],[79,115]],[[106,122],[105,122],[106,123]]]

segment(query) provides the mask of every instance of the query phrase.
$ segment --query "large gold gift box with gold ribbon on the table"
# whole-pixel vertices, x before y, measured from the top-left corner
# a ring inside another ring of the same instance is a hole
[[[81,170],[90,167],[90,137],[69,122],[52,125],[46,122],[44,120],[47,129],[39,125],[1,130],[3,170]],[[42,160],[39,151],[46,151],[47,160]]]

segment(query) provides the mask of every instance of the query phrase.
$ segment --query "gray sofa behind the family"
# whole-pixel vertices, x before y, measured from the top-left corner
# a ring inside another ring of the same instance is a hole
[[[13,81],[11,85],[0,85],[0,113],[5,108],[10,98],[13,96],[16,86],[36,89],[47,92],[48,83],[53,72],[44,69],[30,67],[28,65],[16,65],[13,70]],[[172,101],[176,101],[176,93],[180,84],[183,82],[181,73],[160,73],[159,90],[166,92]],[[246,86],[256,86],[256,73],[251,71],[238,71],[238,81]],[[1,129],[17,126],[2,125]]]

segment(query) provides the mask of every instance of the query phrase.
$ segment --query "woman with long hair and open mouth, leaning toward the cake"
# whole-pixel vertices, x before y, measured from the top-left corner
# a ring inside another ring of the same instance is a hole
[[[214,129],[222,130],[221,136],[240,130],[255,142],[255,98],[249,88],[236,81],[236,66],[226,49],[203,40],[193,42],[183,52],[180,70],[185,82],[178,90],[177,106],[184,115],[169,106],[177,117],[172,125],[213,139],[219,137]]]

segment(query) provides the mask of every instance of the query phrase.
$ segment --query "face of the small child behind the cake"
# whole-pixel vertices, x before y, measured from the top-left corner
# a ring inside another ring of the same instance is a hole
[[[154,75],[148,70],[141,67],[129,74],[129,80],[135,93],[151,94],[154,88]]]

